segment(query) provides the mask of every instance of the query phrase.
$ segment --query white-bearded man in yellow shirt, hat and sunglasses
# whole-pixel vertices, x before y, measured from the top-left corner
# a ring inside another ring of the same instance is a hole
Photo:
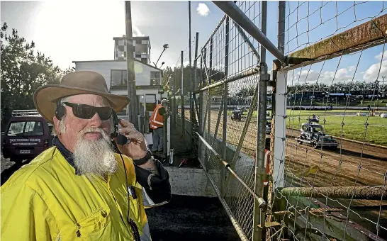
[[[116,118],[130,100],[82,71],[40,87],[34,101],[54,124],[54,146],[1,186],[1,240],[151,240],[145,206],[170,201],[169,175]]]

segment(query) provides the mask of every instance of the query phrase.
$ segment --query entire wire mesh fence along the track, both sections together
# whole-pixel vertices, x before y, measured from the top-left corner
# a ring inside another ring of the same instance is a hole
[[[235,4],[262,29],[262,2]],[[191,76],[185,77],[184,65],[189,47],[176,62],[186,103],[181,108],[175,97],[176,113],[197,118],[198,157],[242,240],[258,240],[257,232],[266,240],[386,239],[385,5],[280,2],[279,23],[285,24],[278,25],[277,46],[287,57],[282,65],[274,61],[275,87],[267,91],[272,110],[265,111],[270,142],[264,180],[257,179],[256,164],[260,66],[266,60],[261,44],[225,15],[201,47],[196,67],[187,68]],[[258,185],[264,186],[267,210],[257,209]],[[261,221],[257,231],[259,215],[267,223]]]

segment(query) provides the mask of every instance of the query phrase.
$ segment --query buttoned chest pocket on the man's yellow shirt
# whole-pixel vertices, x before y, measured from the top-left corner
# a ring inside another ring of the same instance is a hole
[[[111,211],[108,207],[99,208],[77,223],[77,237],[82,240],[99,240],[111,223]]]

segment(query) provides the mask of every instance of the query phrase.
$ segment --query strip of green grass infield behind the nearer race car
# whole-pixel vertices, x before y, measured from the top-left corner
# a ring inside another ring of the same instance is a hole
[[[300,119],[298,119],[298,115],[289,115],[286,126],[299,129],[301,124],[306,122],[302,116]],[[320,116],[320,125],[325,128],[327,134],[341,137],[343,133],[343,138],[361,142],[366,134],[366,142],[387,146],[387,118],[372,116],[367,120],[366,116],[345,116],[343,126],[341,124],[343,116],[325,116],[325,125],[323,119],[324,116]],[[367,130],[365,128],[366,121],[369,123]]]

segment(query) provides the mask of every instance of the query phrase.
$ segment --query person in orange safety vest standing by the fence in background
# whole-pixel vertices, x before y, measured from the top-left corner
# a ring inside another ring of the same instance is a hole
[[[150,116],[150,128],[153,129],[152,152],[162,152],[164,147],[164,116],[168,114],[168,101],[163,99]]]

